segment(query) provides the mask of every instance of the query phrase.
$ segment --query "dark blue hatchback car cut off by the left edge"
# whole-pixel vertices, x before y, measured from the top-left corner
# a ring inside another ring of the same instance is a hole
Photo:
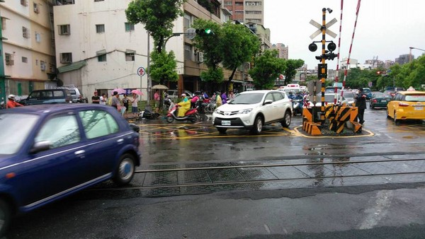
[[[0,111],[0,129],[1,235],[15,213],[105,180],[126,185],[140,165],[140,135],[114,107],[15,107]]]

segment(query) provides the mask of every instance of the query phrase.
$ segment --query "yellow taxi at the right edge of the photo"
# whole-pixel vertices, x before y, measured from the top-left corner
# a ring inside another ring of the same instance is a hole
[[[425,119],[425,91],[399,91],[387,104],[387,118]]]

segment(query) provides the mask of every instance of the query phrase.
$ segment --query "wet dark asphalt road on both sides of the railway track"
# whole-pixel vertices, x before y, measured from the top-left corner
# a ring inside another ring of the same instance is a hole
[[[239,130],[220,135],[210,122],[143,121],[137,170],[312,158],[424,158],[424,122],[395,126],[385,116],[385,110],[366,110],[363,133],[349,137],[305,136],[300,117],[293,118],[290,129],[267,126],[261,136]],[[416,163],[407,165],[425,168],[424,161]],[[135,177],[132,186],[142,187],[147,174],[143,180]],[[199,193],[180,190],[179,196],[168,187],[145,194],[145,188],[119,190],[106,182],[16,218],[7,238],[424,238],[424,174],[382,176],[377,182],[356,178],[302,187],[214,190],[203,185]],[[152,177],[150,182],[169,183]]]

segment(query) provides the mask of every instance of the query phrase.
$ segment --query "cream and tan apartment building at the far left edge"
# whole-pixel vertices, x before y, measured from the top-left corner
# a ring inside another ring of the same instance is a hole
[[[13,0],[0,3],[2,64],[0,95],[18,98],[50,88],[55,82],[53,0]]]

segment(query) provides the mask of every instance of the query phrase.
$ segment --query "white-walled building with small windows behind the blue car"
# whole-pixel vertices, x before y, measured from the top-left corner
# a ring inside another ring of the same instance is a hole
[[[143,25],[128,23],[130,1],[57,1],[57,77],[62,83],[77,86],[87,98],[94,91],[111,95],[114,88],[142,88],[147,95],[147,75],[139,76],[137,69],[147,69],[153,43]]]

